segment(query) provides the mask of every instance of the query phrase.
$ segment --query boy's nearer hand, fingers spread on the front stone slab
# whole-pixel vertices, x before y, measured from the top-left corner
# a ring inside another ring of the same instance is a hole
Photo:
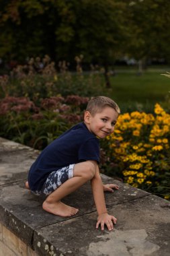
[[[113,230],[114,229],[114,224],[116,224],[117,219],[112,216],[109,215],[107,213],[105,214],[100,214],[97,218],[97,224],[96,224],[96,228],[99,228],[99,224],[101,225],[101,230],[104,230],[104,225],[106,225],[108,227],[108,230]]]

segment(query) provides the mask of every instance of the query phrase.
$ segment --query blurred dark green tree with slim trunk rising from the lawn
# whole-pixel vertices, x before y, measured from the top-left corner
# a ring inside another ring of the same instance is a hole
[[[71,42],[73,53],[81,53],[85,61],[101,63],[105,67],[106,86],[110,87],[108,65],[123,52],[128,30],[126,3],[113,0],[84,0],[75,6],[75,36]]]

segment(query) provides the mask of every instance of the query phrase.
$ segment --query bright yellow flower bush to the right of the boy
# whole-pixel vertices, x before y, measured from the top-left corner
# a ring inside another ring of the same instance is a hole
[[[169,141],[170,115],[156,104],[155,115],[137,111],[120,115],[104,147],[109,143],[108,162],[114,162],[126,183],[169,199]]]

